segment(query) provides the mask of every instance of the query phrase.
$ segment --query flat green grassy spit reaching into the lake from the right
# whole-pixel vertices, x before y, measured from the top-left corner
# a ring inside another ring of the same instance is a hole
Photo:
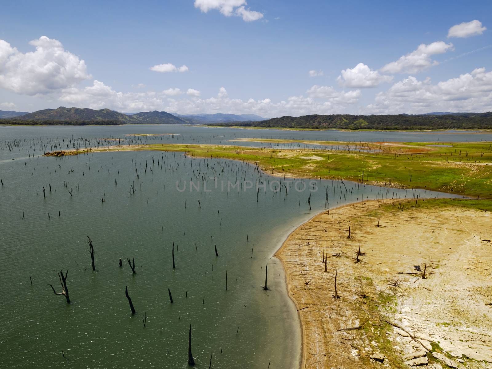
[[[277,141],[286,142],[268,140]],[[338,149],[272,150],[232,145],[154,144],[140,145],[131,150],[175,151],[196,157],[242,160],[257,164],[265,172],[277,175],[342,179],[361,184],[424,188],[479,198],[492,197],[492,165],[488,165],[492,163],[491,142],[435,143],[451,146],[441,145],[442,148],[426,147],[429,143],[405,143],[404,146],[330,141],[318,143],[336,145]],[[351,150],[340,150],[342,146],[349,146]],[[489,205],[486,208],[490,209]]]

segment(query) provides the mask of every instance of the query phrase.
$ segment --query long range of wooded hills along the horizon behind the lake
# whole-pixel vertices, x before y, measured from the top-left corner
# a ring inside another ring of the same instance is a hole
[[[264,119],[254,114],[196,114],[181,115],[167,112],[119,113],[110,109],[88,108],[44,109],[33,113],[0,111],[4,124],[208,124],[289,128],[336,129],[491,129],[492,112],[448,113],[434,112],[419,115],[305,115]]]

